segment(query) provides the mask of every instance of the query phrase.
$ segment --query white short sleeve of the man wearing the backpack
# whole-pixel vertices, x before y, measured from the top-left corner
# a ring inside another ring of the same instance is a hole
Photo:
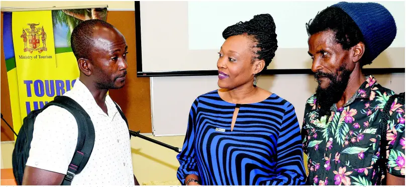
[[[67,110],[49,106],[34,123],[26,165],[66,174],[77,143],[77,123]]]

